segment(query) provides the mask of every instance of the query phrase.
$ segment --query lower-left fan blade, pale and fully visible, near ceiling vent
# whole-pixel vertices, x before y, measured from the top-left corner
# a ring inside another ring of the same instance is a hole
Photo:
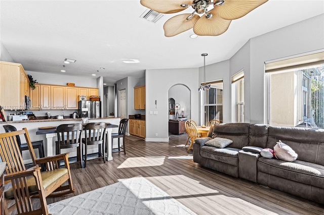
[[[170,18],[164,25],[164,34],[166,37],[175,36],[186,30],[189,30],[200,18],[198,15],[193,14],[193,17],[187,20],[191,14],[180,14]]]

